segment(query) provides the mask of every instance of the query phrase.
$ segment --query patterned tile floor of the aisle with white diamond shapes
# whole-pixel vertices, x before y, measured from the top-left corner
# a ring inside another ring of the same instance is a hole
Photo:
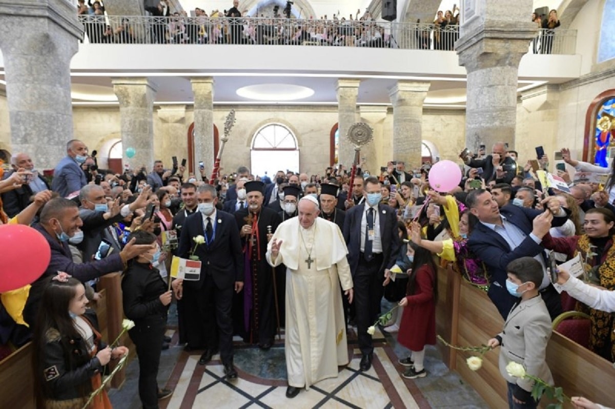
[[[173,321],[170,319],[169,324],[174,325]],[[283,338],[276,341],[269,351],[243,345],[237,340],[234,359],[239,379],[231,383],[223,378],[219,356],[214,356],[208,365],[198,365],[200,351],[186,353],[177,345],[177,335],[173,330],[169,330],[167,335],[173,337],[175,345],[162,352],[158,379],[174,393],[170,399],[161,402],[161,409],[488,408],[472,388],[446,368],[435,348],[427,348],[426,378],[402,378],[403,367],[397,359],[407,356],[408,350],[397,345],[395,337],[385,336],[379,331],[374,335],[373,367],[368,372],[359,371],[360,351],[355,349],[356,336],[351,330],[350,364],[339,368],[337,378],[320,381],[309,391],[302,390],[292,400],[285,397]],[[109,393],[115,409],[140,407],[136,360],[127,367],[126,378],[121,389]]]

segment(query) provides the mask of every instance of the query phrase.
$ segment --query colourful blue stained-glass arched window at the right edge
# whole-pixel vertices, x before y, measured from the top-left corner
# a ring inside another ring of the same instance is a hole
[[[613,136],[615,136],[615,89],[598,95],[587,109],[583,160],[608,167],[609,159],[615,157]]]

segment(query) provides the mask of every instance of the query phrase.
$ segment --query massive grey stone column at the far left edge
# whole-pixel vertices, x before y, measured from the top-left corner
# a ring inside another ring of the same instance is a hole
[[[73,139],[70,63],[82,31],[70,2],[0,2],[11,150],[38,169],[54,168]]]

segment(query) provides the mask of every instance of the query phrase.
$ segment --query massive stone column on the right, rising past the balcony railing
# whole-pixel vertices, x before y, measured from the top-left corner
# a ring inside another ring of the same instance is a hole
[[[466,146],[515,144],[519,62],[536,36],[532,0],[478,0],[462,21],[455,48],[467,71]],[[472,15],[474,14],[474,15]]]

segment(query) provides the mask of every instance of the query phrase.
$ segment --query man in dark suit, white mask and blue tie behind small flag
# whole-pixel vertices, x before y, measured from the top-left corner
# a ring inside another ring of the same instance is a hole
[[[218,198],[213,185],[203,185],[197,190],[197,211],[188,216],[181,228],[177,254],[188,259],[192,255],[201,262],[198,281],[183,281],[183,311],[186,313],[188,343],[201,345],[207,340],[211,326],[218,326],[218,346],[228,380],[237,379],[233,366],[232,351],[232,293],[244,287],[244,254],[239,240],[239,230],[235,218],[226,212],[218,211]],[[205,238],[204,244],[192,240],[196,236]],[[196,249],[195,249],[196,245]],[[208,322],[208,308],[215,308],[216,323]],[[199,362],[211,359],[215,345],[207,345]]]

